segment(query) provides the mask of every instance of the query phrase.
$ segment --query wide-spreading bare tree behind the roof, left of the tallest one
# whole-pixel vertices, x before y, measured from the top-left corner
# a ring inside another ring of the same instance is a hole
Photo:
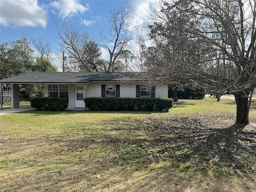
[[[56,29],[62,40],[60,47],[68,56],[70,63],[76,65],[80,71],[98,72],[98,62],[102,52],[97,42],[92,40],[87,32],[80,32],[74,24],[65,22]]]

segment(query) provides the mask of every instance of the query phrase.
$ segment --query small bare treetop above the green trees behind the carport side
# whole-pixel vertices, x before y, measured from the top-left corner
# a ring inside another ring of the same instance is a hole
[[[49,62],[53,61],[53,54],[51,52],[50,44],[44,42],[43,36],[36,36],[35,38],[31,39],[31,42],[34,45],[34,48],[36,48],[36,51],[40,54],[40,57],[44,58]]]

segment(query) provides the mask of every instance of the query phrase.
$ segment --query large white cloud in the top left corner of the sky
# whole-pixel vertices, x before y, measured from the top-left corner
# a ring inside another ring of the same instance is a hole
[[[46,27],[47,12],[38,5],[37,0],[1,0],[0,24],[4,26],[42,26]]]

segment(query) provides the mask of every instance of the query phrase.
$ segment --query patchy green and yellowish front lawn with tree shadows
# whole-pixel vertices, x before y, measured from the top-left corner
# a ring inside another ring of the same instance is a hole
[[[0,116],[0,191],[256,191],[256,102],[180,100],[169,112]]]

